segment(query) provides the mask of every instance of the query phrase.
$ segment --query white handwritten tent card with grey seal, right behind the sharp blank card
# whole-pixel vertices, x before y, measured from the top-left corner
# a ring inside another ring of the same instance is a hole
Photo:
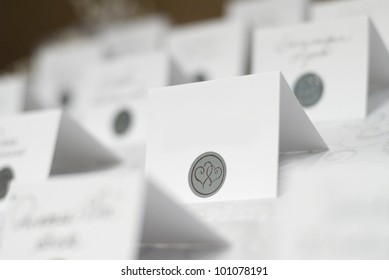
[[[279,69],[312,121],[364,118],[389,55],[367,17],[258,30],[254,72]]]

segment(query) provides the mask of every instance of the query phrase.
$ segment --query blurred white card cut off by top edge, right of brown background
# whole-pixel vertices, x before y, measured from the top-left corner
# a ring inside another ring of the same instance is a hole
[[[251,28],[279,26],[302,22],[306,18],[307,6],[307,0],[230,1],[226,15]]]

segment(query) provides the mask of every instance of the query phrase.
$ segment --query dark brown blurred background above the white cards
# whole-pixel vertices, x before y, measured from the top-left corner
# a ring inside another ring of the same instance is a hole
[[[156,12],[167,14],[173,24],[217,18],[227,1],[0,0],[0,73],[23,68],[39,43],[58,34]]]

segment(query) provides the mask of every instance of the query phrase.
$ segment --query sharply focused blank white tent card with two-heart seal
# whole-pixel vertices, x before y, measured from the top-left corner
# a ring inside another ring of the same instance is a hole
[[[146,175],[185,203],[277,195],[279,153],[327,146],[279,72],[153,89]]]

